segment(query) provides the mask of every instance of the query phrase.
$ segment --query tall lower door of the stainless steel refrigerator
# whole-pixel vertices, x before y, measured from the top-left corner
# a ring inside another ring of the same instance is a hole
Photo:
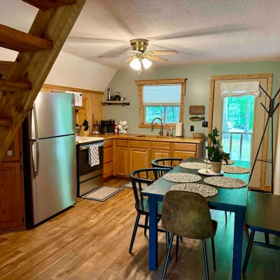
[[[76,203],[75,136],[38,141],[36,158],[34,143],[33,209],[34,225]]]

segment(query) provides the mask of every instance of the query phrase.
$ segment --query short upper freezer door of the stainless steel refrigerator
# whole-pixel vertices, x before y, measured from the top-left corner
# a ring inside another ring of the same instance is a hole
[[[75,134],[73,94],[39,92],[32,112],[32,136],[38,139]]]

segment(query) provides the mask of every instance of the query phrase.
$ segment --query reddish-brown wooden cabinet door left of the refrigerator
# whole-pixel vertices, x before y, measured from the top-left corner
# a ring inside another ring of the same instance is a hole
[[[20,162],[0,165],[0,194],[0,229],[25,225]]]

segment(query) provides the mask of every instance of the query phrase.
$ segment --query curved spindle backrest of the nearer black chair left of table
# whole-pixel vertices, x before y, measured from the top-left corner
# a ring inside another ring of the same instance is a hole
[[[144,189],[143,186],[150,186],[153,183],[151,174],[155,177],[155,180],[160,179],[161,176],[169,172],[169,168],[146,168],[134,170],[130,173],[130,181],[132,182],[132,190],[135,199],[135,208],[137,210],[143,210],[144,197],[141,194],[141,191]]]

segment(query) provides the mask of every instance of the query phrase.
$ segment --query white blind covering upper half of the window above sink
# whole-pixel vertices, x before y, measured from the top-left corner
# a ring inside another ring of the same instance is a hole
[[[180,106],[180,85],[144,85],[144,106]]]

